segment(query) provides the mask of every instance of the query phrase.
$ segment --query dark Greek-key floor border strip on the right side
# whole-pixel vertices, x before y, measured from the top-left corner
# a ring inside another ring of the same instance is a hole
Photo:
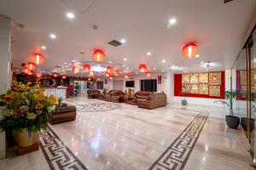
[[[208,113],[200,112],[148,170],[182,170],[194,149]]]

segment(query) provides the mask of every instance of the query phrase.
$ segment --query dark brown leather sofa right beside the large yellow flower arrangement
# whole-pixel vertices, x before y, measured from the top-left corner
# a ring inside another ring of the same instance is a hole
[[[60,108],[55,109],[51,114],[48,114],[48,122],[55,124],[59,122],[74,121],[77,116],[76,107],[73,105],[62,105]]]

